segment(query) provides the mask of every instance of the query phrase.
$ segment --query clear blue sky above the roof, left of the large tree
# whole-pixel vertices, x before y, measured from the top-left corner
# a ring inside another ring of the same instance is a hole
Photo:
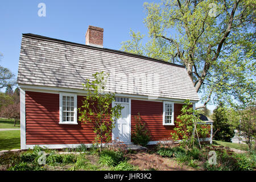
[[[130,39],[130,28],[147,34],[143,24],[144,2],[160,1],[1,1],[0,52],[3,58],[0,64],[17,75],[24,33],[85,44],[89,25],[104,28],[104,47],[118,50],[121,42]],[[39,3],[46,4],[45,17],[38,16]]]

